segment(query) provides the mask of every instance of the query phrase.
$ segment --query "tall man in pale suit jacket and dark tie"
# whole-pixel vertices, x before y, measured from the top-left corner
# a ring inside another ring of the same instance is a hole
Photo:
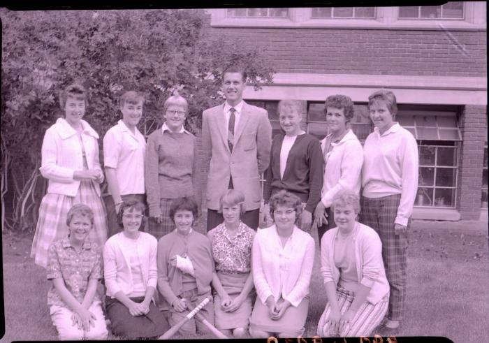
[[[202,147],[207,176],[207,231],[224,221],[219,198],[226,189],[245,194],[241,220],[258,228],[261,205],[260,175],[268,168],[272,126],[263,108],[242,99],[247,74],[237,66],[223,73],[222,91],[226,101],[202,114]]]

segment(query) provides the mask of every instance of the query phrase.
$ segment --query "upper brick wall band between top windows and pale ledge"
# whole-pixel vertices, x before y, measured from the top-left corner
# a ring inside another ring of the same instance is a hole
[[[258,46],[280,73],[487,75],[486,32],[367,29],[212,28],[236,43]]]

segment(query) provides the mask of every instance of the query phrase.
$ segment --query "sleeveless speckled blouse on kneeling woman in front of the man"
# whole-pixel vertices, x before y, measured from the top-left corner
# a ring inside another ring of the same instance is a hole
[[[234,238],[229,237],[224,223],[212,229],[212,233],[212,257],[216,270],[228,274],[249,272],[255,231],[240,221]]]

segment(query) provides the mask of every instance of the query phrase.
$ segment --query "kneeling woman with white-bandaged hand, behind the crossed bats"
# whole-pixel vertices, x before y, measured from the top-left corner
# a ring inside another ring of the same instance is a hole
[[[214,311],[210,284],[214,275],[214,261],[210,242],[202,233],[194,231],[197,204],[192,198],[178,198],[170,206],[170,218],[175,230],[158,242],[158,289],[165,301],[161,309],[169,309],[170,324],[175,326],[202,300],[211,301],[200,309],[200,314],[214,325]],[[207,333],[200,321],[191,319],[179,330],[184,335]]]

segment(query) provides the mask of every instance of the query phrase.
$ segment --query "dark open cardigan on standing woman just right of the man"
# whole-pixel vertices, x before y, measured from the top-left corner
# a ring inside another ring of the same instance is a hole
[[[279,133],[272,140],[272,152],[270,167],[266,172],[263,197],[268,203],[270,196],[281,189],[286,189],[307,203],[305,209],[314,212],[317,203],[321,200],[323,188],[323,153],[319,140],[309,135],[302,134],[295,138],[284,171],[284,177],[280,177],[280,149],[284,141],[284,134]]]

